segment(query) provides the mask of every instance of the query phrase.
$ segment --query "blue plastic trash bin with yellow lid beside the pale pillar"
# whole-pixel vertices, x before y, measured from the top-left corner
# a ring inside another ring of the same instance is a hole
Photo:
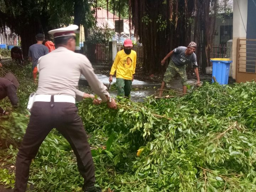
[[[219,60],[218,60],[219,59]],[[215,76],[217,82],[220,85],[228,84],[229,67],[233,61],[230,59],[214,58],[210,60],[213,62],[213,73],[212,77]],[[212,82],[213,79],[212,79]]]

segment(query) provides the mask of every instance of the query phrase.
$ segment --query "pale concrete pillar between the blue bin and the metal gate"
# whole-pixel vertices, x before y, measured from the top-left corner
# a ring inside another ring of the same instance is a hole
[[[231,64],[231,76],[236,79],[236,52],[237,52],[237,39],[246,39],[247,28],[247,5],[248,0],[234,1],[233,11],[233,63]]]

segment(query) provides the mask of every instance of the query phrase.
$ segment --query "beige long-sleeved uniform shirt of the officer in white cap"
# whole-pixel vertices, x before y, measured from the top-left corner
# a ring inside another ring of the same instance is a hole
[[[76,89],[83,74],[91,89],[106,101],[107,87],[98,80],[90,61],[85,55],[59,47],[38,60],[37,95],[70,95],[82,97],[84,92]]]

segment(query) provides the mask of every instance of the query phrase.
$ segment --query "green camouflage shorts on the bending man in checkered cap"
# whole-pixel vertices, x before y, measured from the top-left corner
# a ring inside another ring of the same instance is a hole
[[[178,66],[175,65],[171,60],[164,74],[164,82],[170,82],[174,79],[176,74],[180,76],[182,85],[187,85],[186,65]]]

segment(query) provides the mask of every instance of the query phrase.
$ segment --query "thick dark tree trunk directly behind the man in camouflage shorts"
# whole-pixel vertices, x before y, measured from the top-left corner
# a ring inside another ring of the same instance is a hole
[[[191,17],[193,1],[189,1],[187,5],[184,1],[179,1],[179,4],[177,1],[173,4],[170,2],[166,1],[165,4],[159,0],[131,1],[135,35],[139,36],[143,44],[146,56],[144,66],[148,74],[165,71],[167,63],[161,66],[161,60],[175,47],[187,46],[190,41],[191,24],[187,23],[187,18]],[[177,12],[170,13],[170,6]],[[178,16],[179,12],[185,12],[185,15]]]

